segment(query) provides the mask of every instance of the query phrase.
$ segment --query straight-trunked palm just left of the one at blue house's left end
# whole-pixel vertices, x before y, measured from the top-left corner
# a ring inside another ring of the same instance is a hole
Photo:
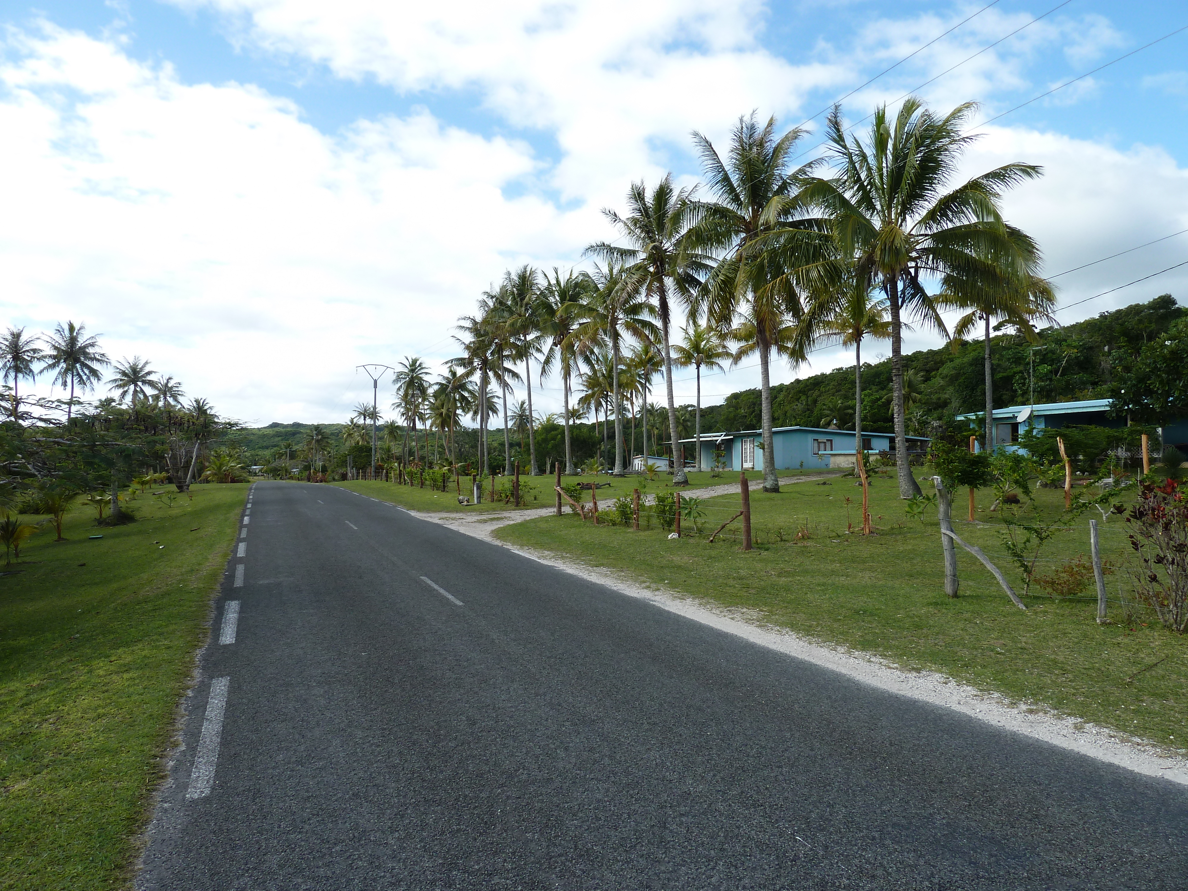
[[[598,264],[588,273],[593,283],[586,303],[574,312],[581,323],[574,331],[580,342],[593,343],[605,340],[611,347],[612,405],[614,410],[614,475],[623,476],[623,392],[619,384],[623,369],[620,348],[624,334],[638,341],[653,341],[659,329],[651,321],[656,309],[644,296],[640,277],[626,267],[608,263],[606,268]]]

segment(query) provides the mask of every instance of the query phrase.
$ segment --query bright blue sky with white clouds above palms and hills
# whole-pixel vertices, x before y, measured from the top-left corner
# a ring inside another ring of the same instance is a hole
[[[369,390],[356,364],[448,359],[505,267],[580,263],[632,179],[695,182],[693,129],[721,140],[752,108],[801,124],[917,50],[847,114],[935,77],[930,105],[975,100],[986,120],[1188,25],[1169,4],[984,7],[6,2],[6,321],[84,321],[248,422],[336,419]],[[1048,171],[1006,209],[1049,274],[1188,228],[1186,58],[1188,31],[979,131],[967,172]],[[1188,235],[1061,277],[1061,299],[1183,259]],[[1184,285],[1177,270],[1061,318]],[[734,371],[708,402],[754,384]],[[555,381],[541,392],[549,410]]]

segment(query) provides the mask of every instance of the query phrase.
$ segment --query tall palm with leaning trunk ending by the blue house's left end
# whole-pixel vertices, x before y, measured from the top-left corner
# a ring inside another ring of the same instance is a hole
[[[672,396],[672,350],[669,343],[671,301],[676,298],[685,307],[691,305],[702,279],[712,268],[712,258],[685,242],[685,234],[696,221],[697,213],[693,191],[677,189],[672,175],[668,173],[651,195],[643,182],[631,184],[626,216],[609,208],[604,208],[602,213],[627,246],[599,241],[587,247],[586,254],[628,266],[631,273],[638,276],[644,295],[655,301],[663,341],[669,429],[675,430],[676,400]],[[672,455],[676,460],[672,482],[688,484],[680,442],[672,443]]]

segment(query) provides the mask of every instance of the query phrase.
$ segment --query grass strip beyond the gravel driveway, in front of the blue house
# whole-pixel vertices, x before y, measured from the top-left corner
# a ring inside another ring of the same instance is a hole
[[[798,476],[803,474],[820,474],[829,473],[829,470],[781,470],[781,476]],[[840,470],[834,470],[833,473],[841,473]],[[714,476],[708,470],[702,473],[689,474],[689,486],[682,486],[681,492],[693,492],[699,488],[706,488],[707,486],[738,486],[739,474],[738,470],[723,470],[720,476]],[[508,478],[497,476],[495,485],[503,485]],[[763,472],[748,470],[748,480],[762,480]],[[598,500],[613,501],[619,495],[630,495],[633,488],[639,488],[643,494],[655,495],[657,492],[671,492],[672,478],[664,473],[656,474],[656,479],[649,480],[643,475],[627,475],[621,478],[611,476],[608,474],[582,474],[577,476],[562,476],[561,482],[563,486],[568,486],[574,482],[594,482],[596,481],[600,486],[604,484],[611,484],[607,488],[598,489]],[[372,498],[378,498],[381,501],[388,501],[390,504],[399,505],[400,507],[406,507],[410,511],[430,511],[441,513],[494,513],[494,512],[507,512],[516,510],[510,505],[501,503],[491,504],[489,501],[484,501],[479,505],[460,505],[457,503],[457,491],[454,484],[449,484],[449,492],[434,492],[432,489],[425,487],[419,488],[417,486],[400,486],[394,482],[377,482],[373,480],[353,480],[350,482],[331,482],[331,486],[340,486],[352,492],[360,492],[371,495]],[[550,474],[548,476],[529,476],[525,473],[520,474],[520,485],[525,486],[527,508],[533,507],[550,507],[555,504],[556,495],[552,491],[554,476]],[[469,478],[462,478],[462,494],[469,495],[470,482]],[[491,491],[491,480],[487,480],[486,488],[484,489],[484,498],[488,497]],[[586,492],[584,503],[589,504],[590,494]],[[568,506],[565,510],[569,510]]]

